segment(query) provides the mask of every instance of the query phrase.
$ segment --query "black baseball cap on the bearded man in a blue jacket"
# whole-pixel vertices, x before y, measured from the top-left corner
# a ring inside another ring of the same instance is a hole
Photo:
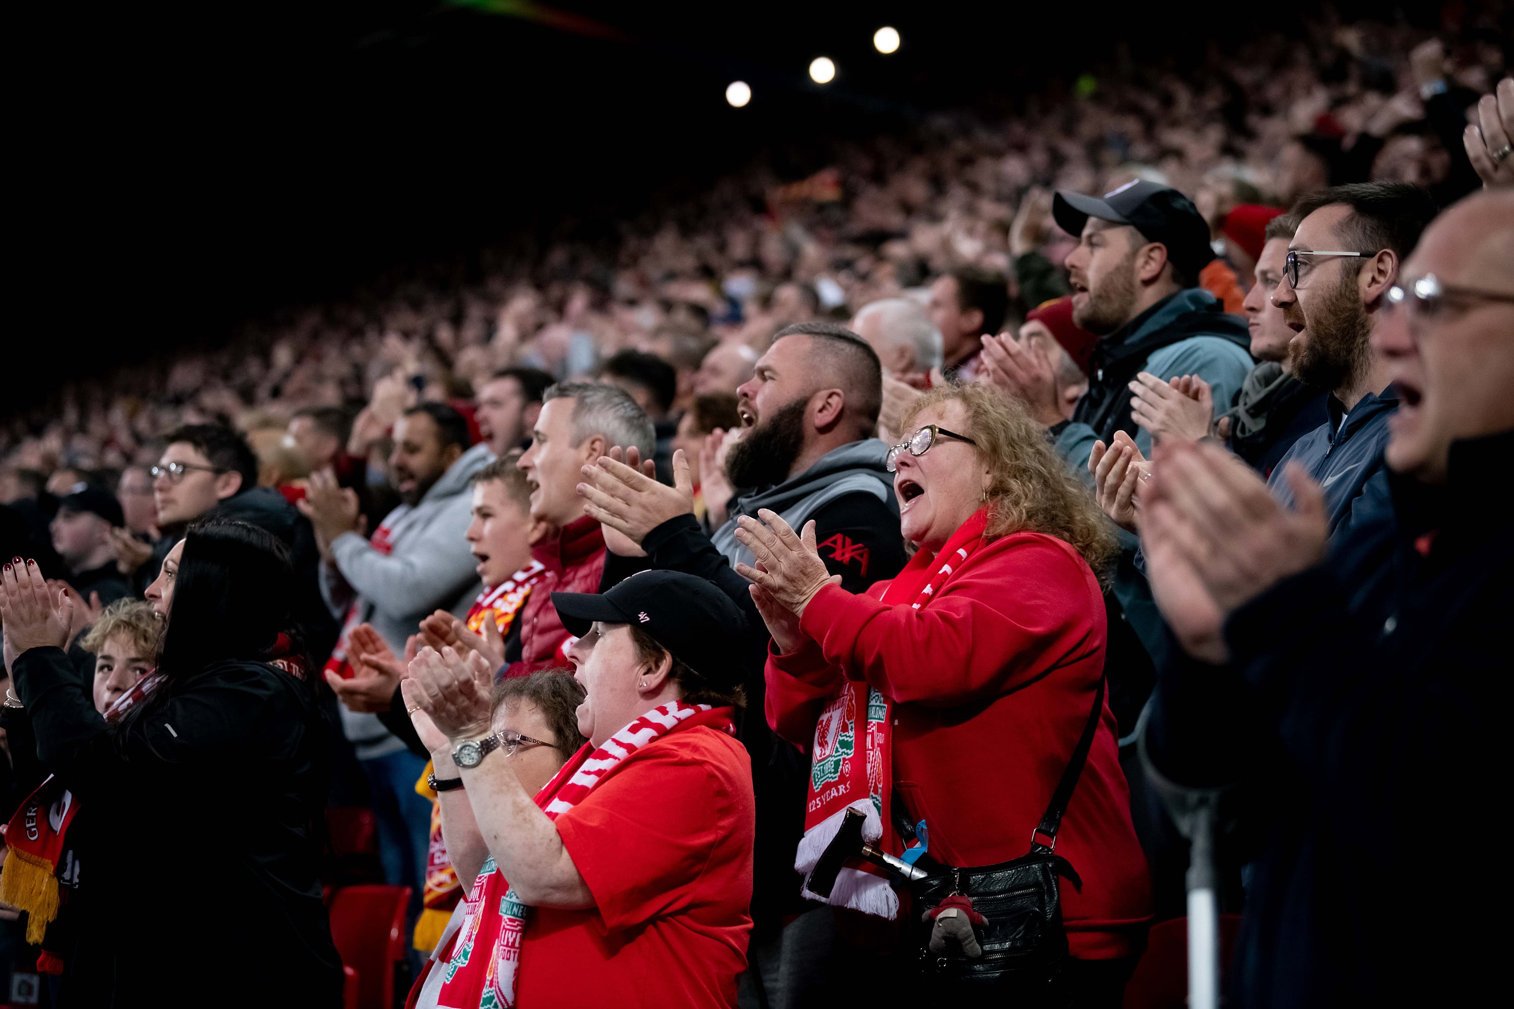
[[[1051,213],[1057,227],[1072,236],[1083,234],[1089,218],[1131,225],[1148,242],[1166,245],[1167,259],[1190,284],[1199,283],[1199,271],[1214,259],[1208,222],[1193,201],[1172,186],[1137,179],[1102,198],[1058,189]]]

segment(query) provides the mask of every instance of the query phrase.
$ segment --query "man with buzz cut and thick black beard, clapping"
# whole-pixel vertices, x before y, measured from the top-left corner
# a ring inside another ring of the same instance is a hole
[[[807,908],[793,859],[804,832],[808,764],[768,728],[763,663],[769,638],[751,582],[734,570],[737,560],[752,560],[736,542],[736,519],[771,508],[795,529],[813,520],[821,558],[848,591],[896,575],[905,561],[898,501],[884,469],[887,446],[872,437],[881,401],[883,369],[860,336],[833,322],[799,322],[778,331],[752,378],[737,389],[746,437],[731,449],[727,477],[739,490],[713,542],[693,517],[693,481],[681,452],[674,455],[674,487],[636,472],[637,460],[628,460],[633,466],[600,460],[578,484],[587,514],[613,534],[612,551],[640,549],[654,569],[715,582],[754,629],[749,641],[731,643],[733,660],[742,663],[740,737],[752,758],[757,794],[755,930],[751,970],[742,982],[752,1000],[766,991],[777,1004],[795,1004],[799,992],[813,994],[827,977],[854,977],[852,971],[868,968],[866,955],[827,959],[833,915],[852,912],[810,909],[780,932],[786,915]]]

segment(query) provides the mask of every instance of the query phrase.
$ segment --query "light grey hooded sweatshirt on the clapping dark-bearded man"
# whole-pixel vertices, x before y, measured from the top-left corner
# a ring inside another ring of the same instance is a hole
[[[359,622],[371,623],[395,655],[404,655],[404,641],[419,631],[422,617],[438,610],[468,614],[480,587],[477,560],[463,539],[472,508],[468,480],[492,458],[488,445],[474,445],[415,505],[389,513],[388,555],[356,532],[344,532],[332,543],[335,570],[332,563],[321,564],[321,596],[338,620],[356,602]],[[357,759],[404,749],[378,716],[347,708],[341,713],[342,732]]]

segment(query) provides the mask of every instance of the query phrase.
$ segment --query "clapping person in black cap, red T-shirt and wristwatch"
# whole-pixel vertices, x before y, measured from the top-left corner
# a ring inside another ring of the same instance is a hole
[[[424,649],[403,685],[435,722],[415,716],[422,738],[451,743],[436,787],[466,790],[491,856],[438,1004],[478,1004],[494,985],[500,1004],[736,1006],[755,820],[733,725],[746,617],[681,572],[551,599],[578,635],[568,657],[589,743],[534,797],[489,759],[536,741],[491,735],[488,661]],[[465,841],[442,829],[448,847]]]

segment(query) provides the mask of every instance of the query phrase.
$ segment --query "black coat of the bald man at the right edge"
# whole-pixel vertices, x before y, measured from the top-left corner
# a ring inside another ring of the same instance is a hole
[[[1148,755],[1240,781],[1258,847],[1234,1006],[1478,1004],[1502,988],[1514,433],[1231,614],[1232,664],[1161,670]]]

